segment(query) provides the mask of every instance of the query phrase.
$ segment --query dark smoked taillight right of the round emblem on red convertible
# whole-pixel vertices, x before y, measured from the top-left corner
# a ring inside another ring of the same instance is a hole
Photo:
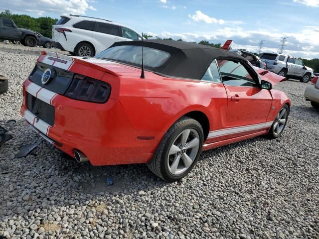
[[[105,103],[111,93],[111,86],[103,81],[82,75],[75,75],[66,93],[66,97],[95,103]]]

